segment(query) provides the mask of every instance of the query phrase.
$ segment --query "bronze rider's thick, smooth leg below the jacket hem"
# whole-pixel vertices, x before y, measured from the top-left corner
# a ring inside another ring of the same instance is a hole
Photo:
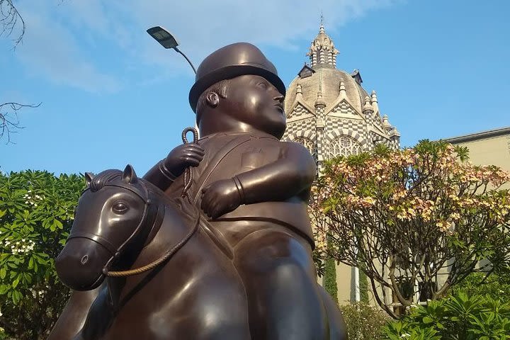
[[[244,237],[234,253],[252,339],[329,339],[309,244],[292,232],[262,229]]]

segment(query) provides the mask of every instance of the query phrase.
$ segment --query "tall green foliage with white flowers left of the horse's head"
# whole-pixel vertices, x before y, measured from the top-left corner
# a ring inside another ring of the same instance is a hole
[[[67,301],[54,259],[84,187],[78,175],[0,174],[0,327],[14,339],[44,338]]]

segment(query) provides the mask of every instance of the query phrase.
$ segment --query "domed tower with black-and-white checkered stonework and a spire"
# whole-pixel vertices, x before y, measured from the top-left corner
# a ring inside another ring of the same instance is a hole
[[[320,26],[305,64],[285,97],[287,130],[284,140],[300,142],[317,161],[370,150],[378,143],[399,148],[399,132],[381,117],[378,98],[361,86],[360,72],[336,68],[333,41]]]

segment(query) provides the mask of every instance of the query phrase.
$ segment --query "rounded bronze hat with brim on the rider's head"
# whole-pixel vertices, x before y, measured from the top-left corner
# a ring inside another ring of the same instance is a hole
[[[244,74],[264,77],[285,96],[285,85],[278,77],[273,63],[256,46],[248,42],[236,42],[212,52],[198,67],[195,84],[191,86],[189,94],[193,112],[196,112],[198,97],[209,86]]]

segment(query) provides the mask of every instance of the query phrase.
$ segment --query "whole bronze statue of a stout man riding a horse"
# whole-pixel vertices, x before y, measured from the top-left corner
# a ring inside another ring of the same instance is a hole
[[[77,215],[68,243],[57,259],[57,271],[74,289],[94,289],[108,271],[136,268],[171,247],[179,237],[171,236],[167,220],[181,234],[186,227],[198,229],[187,241],[196,246],[184,244],[142,277],[108,278],[106,285],[96,288],[98,295],[88,316],[77,310],[91,303],[91,295],[75,293],[73,303],[80,307],[73,307],[70,301],[62,313],[62,317],[74,313],[70,318],[74,321],[59,321],[53,334],[79,331],[79,335],[52,334],[50,339],[125,339],[110,334],[130,334],[130,339],[346,339],[341,314],[317,285],[312,261],[314,242],[307,200],[315,176],[314,160],[305,147],[279,140],[285,131],[284,96],[285,86],[276,68],[254,45],[241,42],[222,47],[200,64],[189,99],[202,137],[173,149],[144,180],[133,182],[135,176],[127,168],[122,178],[128,184],[120,186],[130,190],[126,187],[148,181],[152,185],[146,183],[145,188],[152,195],[162,201],[167,198],[160,228],[167,230],[166,238],[157,239],[147,230],[135,235],[133,228],[138,230],[142,224],[140,210],[133,210],[138,220],[131,217],[134,220],[130,223],[112,217],[89,227],[81,225]],[[99,179],[89,179],[90,191],[97,187],[97,196],[104,190],[99,187],[104,186],[112,194],[111,187],[120,179],[115,177],[115,183],[105,184],[111,181],[108,176],[102,173]],[[112,200],[107,193],[102,198],[92,196],[84,193],[78,214],[85,210],[95,216]],[[194,240],[196,237],[200,239]],[[89,245],[80,245],[84,239]],[[119,251],[118,246],[126,239],[133,243],[130,250]],[[91,250],[94,242],[101,246]],[[157,250],[144,255],[153,242]],[[123,254],[118,253],[128,253],[128,258],[120,260]],[[113,265],[115,268],[110,268]],[[79,270],[73,271],[75,267]],[[193,285],[196,280],[205,280],[204,285]],[[184,298],[191,300],[181,302],[181,309],[151,306],[179,301],[181,290],[191,294]],[[213,307],[216,305],[219,307]],[[232,322],[223,324],[224,319],[209,314],[212,322],[208,323],[208,311],[229,315],[227,319]],[[183,322],[186,330],[174,321],[182,315],[190,317]],[[150,333],[155,317],[164,320],[164,329],[174,333]],[[146,333],[136,333],[134,322],[140,322]]]

